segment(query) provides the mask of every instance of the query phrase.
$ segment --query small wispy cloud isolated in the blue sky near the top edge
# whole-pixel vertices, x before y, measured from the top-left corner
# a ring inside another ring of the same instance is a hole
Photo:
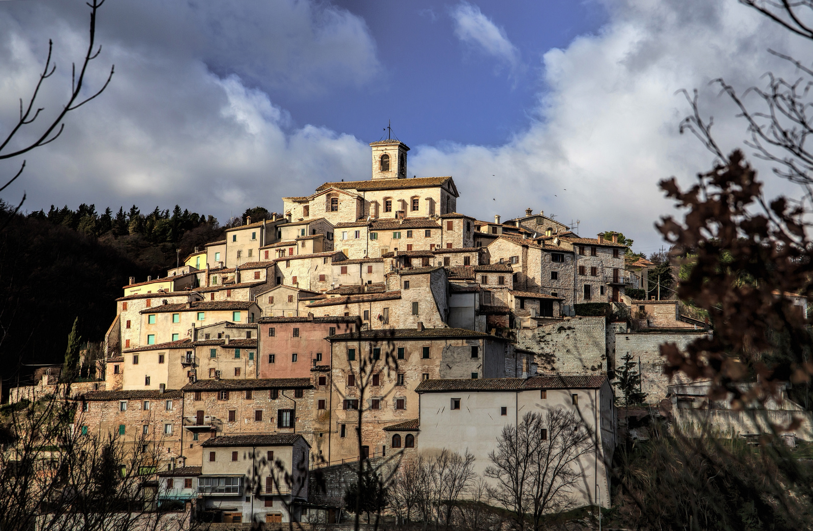
[[[480,11],[480,7],[460,2],[451,11],[454,35],[468,46],[490,55],[515,71],[520,67],[520,50],[508,40],[505,30],[498,28]]]

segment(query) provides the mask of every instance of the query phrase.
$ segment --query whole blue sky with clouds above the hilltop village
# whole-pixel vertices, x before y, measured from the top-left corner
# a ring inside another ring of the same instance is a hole
[[[0,2],[0,133],[48,39],[58,69],[41,105],[59,109],[87,21],[81,0]],[[412,148],[407,173],[454,176],[459,211],[530,207],[579,221],[583,236],[621,231],[646,253],[663,245],[654,222],[677,213],[659,181],[711,167],[679,132],[680,89],[700,91],[731,150],[746,124],[710,81],[742,91],[768,70],[792,77],[767,49],[808,51],[736,0],[111,0],[98,41],[89,87],[115,63],[110,87],[28,156],[3,200],[178,203],[220,220],[279,210],[280,197],[368,178],[367,144],[392,120]],[[770,194],[798,194],[768,181]]]

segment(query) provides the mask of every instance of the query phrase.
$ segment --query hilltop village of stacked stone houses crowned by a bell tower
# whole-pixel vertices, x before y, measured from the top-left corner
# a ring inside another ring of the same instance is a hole
[[[72,385],[76,429],[155,450],[159,499],[280,522],[315,500],[272,481],[243,497],[258,452],[304,477],[467,448],[482,472],[506,424],[559,407],[594,434],[572,497],[610,507],[616,369],[634,359],[660,403],[681,382],[659,345],[685,346],[706,323],[676,300],[630,298],[653,264],[617,236],[580,237],[531,208],[480,220],[458,211],[451,176],[408,177],[401,141],[370,147],[370,179],[281,198],[166,276],[131,277],[98,379]]]

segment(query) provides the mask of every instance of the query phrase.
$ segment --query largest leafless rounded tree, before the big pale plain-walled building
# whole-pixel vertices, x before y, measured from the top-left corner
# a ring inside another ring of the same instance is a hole
[[[490,496],[514,513],[517,529],[542,528],[548,513],[572,507],[583,475],[580,458],[593,450],[590,433],[572,412],[526,413],[520,425],[502,429],[489,453],[485,476],[496,481]]]

